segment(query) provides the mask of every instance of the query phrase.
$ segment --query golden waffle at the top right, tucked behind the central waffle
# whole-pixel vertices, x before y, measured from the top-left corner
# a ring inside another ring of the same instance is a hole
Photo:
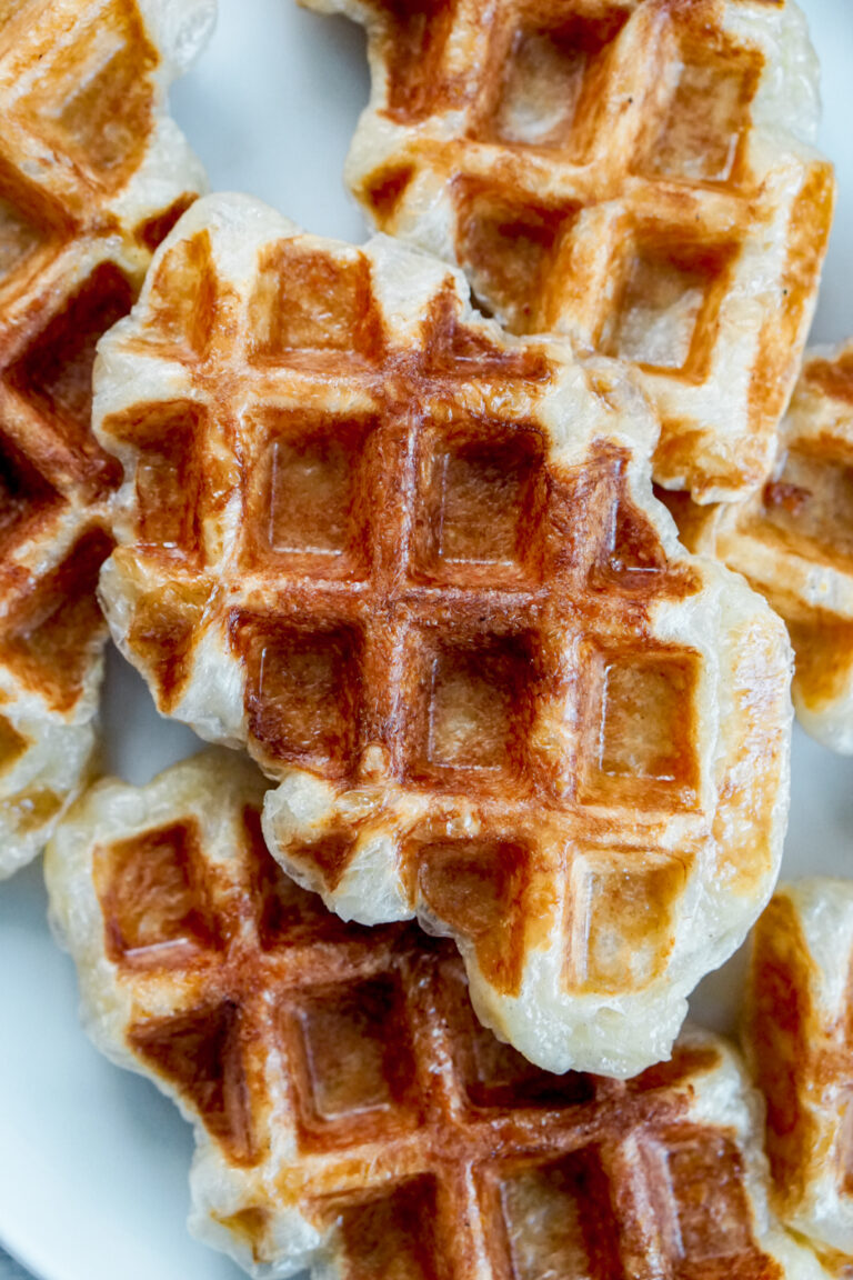
[[[304,0],[367,26],[348,160],[380,230],[464,268],[514,333],[632,361],[655,476],[766,476],[833,212],[817,63],[767,0]]]

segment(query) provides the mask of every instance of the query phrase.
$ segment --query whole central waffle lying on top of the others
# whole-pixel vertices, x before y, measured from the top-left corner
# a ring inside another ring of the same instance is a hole
[[[101,596],[160,710],[281,781],[285,869],[451,933],[540,1065],[630,1074],[770,896],[784,627],[679,547],[622,366],[463,296],[200,201],[100,347]]]

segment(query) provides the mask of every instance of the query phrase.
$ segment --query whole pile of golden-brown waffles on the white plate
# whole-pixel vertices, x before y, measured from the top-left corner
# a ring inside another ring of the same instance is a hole
[[[755,1083],[682,1030],[779,874],[790,641],[853,748],[849,352],[780,425],[833,209],[803,19],[345,9],[363,247],[194,198],[208,0],[0,0],[6,869],[52,832],[87,1028],[257,1277],[844,1275],[844,893],[761,916]],[[68,809],[106,627],[220,750]]]

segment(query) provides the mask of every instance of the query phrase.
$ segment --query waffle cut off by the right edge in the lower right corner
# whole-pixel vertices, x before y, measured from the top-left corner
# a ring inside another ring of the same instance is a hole
[[[781,886],[756,925],[744,1046],[783,1221],[853,1274],[853,883]]]

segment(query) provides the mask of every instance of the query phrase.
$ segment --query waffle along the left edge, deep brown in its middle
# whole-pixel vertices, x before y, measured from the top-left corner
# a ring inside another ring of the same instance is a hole
[[[201,189],[165,114],[215,0],[0,3],[0,877],[81,786],[120,468],[91,434],[98,337]]]

